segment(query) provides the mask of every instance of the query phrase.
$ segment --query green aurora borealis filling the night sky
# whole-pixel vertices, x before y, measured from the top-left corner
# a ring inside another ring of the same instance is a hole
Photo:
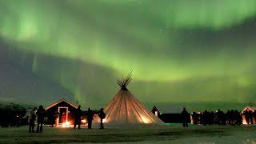
[[[84,106],[106,106],[130,70],[142,102],[256,102],[255,27],[255,0],[0,0],[0,58]]]

